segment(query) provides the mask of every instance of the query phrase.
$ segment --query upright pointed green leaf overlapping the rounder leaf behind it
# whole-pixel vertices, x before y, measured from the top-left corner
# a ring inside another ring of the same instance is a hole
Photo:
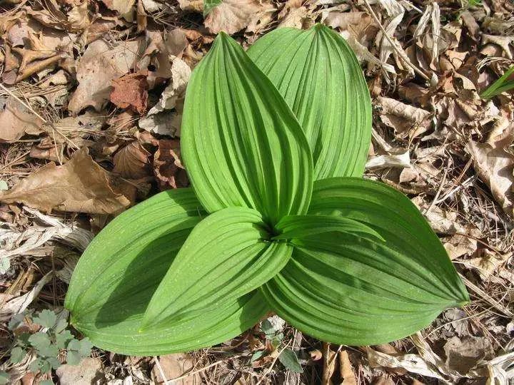
[[[188,83],[181,150],[208,212],[249,207],[275,225],[307,211],[313,165],[303,130],[271,81],[223,32]]]

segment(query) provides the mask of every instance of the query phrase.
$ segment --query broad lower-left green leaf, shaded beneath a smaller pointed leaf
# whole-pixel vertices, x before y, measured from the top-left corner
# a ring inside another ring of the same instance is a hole
[[[203,216],[188,188],[155,195],[110,222],[71,278],[65,306],[74,327],[102,349],[156,355],[218,344],[256,324],[266,302],[253,293],[198,317],[138,332],[158,284]]]

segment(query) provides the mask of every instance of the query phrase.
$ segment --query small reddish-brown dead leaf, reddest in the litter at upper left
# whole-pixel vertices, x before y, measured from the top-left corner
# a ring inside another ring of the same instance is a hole
[[[112,81],[111,102],[120,108],[130,107],[143,114],[148,104],[146,71],[128,73]]]

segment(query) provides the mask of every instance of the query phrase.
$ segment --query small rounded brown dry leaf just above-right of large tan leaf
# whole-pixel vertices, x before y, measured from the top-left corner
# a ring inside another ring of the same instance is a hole
[[[137,140],[121,148],[114,155],[114,173],[123,178],[140,179],[150,172],[150,153]]]

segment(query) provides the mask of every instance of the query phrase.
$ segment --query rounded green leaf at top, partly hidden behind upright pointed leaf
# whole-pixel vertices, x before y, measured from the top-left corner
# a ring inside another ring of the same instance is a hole
[[[303,127],[314,179],[361,177],[371,140],[371,98],[346,41],[321,24],[308,31],[280,28],[258,39],[248,56]]]

